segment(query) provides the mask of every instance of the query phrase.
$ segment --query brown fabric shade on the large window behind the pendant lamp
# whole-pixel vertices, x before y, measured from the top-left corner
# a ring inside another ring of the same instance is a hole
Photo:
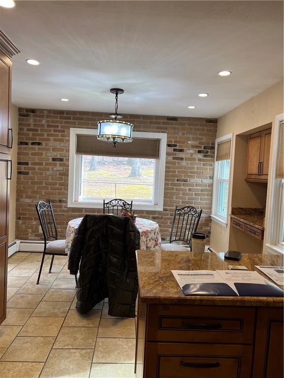
[[[77,135],[77,155],[114,156],[121,158],[157,159],[160,154],[159,139],[133,138],[131,143],[102,142],[96,135]]]

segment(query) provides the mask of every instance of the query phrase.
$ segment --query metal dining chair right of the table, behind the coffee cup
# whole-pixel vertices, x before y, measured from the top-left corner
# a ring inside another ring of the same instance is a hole
[[[183,242],[186,247],[191,248],[191,235],[196,232],[202,210],[197,210],[193,206],[176,206],[174,219],[170,233],[170,244],[162,244],[162,250],[175,251],[182,247],[182,244],[174,242]]]

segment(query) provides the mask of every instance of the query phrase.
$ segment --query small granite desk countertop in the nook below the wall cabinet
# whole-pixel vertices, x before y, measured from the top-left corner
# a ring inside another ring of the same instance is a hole
[[[233,207],[231,218],[264,231],[263,209]]]

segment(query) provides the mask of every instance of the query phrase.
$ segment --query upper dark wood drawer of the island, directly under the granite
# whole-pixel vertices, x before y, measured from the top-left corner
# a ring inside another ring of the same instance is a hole
[[[147,340],[251,344],[254,316],[245,307],[150,305]]]

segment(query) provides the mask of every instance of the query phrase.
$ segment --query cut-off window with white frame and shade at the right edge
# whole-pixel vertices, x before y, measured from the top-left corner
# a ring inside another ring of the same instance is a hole
[[[276,117],[271,146],[273,152],[266,247],[269,252],[284,253],[284,114]]]

